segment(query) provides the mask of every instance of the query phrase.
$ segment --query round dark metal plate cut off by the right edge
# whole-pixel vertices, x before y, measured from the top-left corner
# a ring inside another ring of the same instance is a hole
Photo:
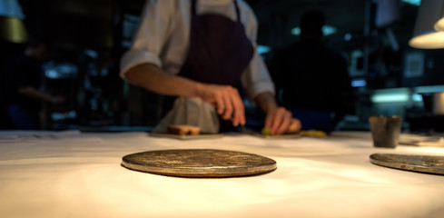
[[[419,173],[444,174],[444,156],[371,154],[370,163]]]

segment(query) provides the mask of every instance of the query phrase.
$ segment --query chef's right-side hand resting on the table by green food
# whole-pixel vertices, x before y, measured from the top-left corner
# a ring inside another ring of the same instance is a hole
[[[270,129],[271,134],[296,133],[301,130],[301,121],[284,107],[278,107],[267,113],[264,127]]]

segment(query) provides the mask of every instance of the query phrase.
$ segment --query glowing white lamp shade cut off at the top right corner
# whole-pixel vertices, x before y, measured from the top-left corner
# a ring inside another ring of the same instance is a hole
[[[409,45],[415,48],[444,48],[444,1],[427,0],[419,5],[419,11]]]

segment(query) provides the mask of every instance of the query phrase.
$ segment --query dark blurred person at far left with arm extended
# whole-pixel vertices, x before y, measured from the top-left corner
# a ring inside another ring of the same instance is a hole
[[[41,92],[42,63],[48,47],[31,40],[9,67],[5,78],[6,111],[15,129],[40,129],[39,112],[43,102],[63,104],[64,97]]]

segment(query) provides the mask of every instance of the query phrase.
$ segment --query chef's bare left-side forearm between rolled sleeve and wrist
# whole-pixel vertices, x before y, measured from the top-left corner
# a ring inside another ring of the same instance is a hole
[[[202,84],[188,78],[171,75],[154,64],[139,64],[126,73],[126,78],[133,84],[157,94],[196,96]]]

